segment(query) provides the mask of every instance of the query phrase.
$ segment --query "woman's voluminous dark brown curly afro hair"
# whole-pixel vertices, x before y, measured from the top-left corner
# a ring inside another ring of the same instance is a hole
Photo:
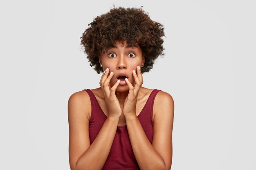
[[[155,59],[164,55],[164,26],[151,20],[141,8],[114,7],[97,16],[88,26],[81,37],[81,45],[88,55],[90,66],[94,66],[98,74],[103,72],[99,57],[115,45],[117,40],[141,47],[145,58],[141,73],[150,71]]]

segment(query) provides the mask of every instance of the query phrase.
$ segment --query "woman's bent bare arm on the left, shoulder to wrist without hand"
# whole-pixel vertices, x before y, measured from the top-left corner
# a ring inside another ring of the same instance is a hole
[[[71,170],[101,170],[112,146],[118,117],[108,117],[96,139],[90,145],[90,97],[86,92],[71,95],[68,101],[70,129],[69,159]]]

